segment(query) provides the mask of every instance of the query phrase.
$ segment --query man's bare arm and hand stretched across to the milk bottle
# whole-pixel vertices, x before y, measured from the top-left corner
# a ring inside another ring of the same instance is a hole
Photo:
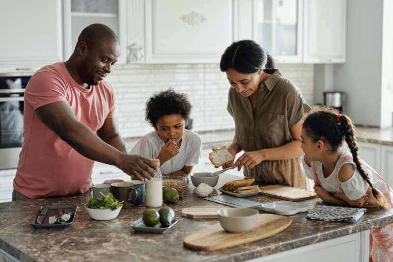
[[[137,155],[127,155],[104,142],[90,128],[76,119],[67,102],[43,105],[36,109],[36,113],[46,126],[84,157],[117,166],[126,174],[135,175],[140,180],[154,175],[154,170],[151,168],[154,164],[151,160]]]

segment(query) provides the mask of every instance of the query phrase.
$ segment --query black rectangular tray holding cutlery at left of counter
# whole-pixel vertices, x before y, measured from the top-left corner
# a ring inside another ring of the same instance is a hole
[[[45,205],[43,208],[48,208],[48,211],[46,212],[44,221],[42,221],[42,224],[37,224],[37,216],[38,213],[40,212],[39,208],[37,212],[33,215],[33,218],[31,219],[31,225],[34,228],[65,228],[69,227],[72,223],[74,223],[74,218],[78,210],[78,206],[75,204],[72,205],[58,205],[58,206],[49,206]],[[67,223],[62,223],[62,224],[49,224],[49,217],[56,215],[58,209],[63,209],[67,212],[74,212],[74,214],[71,215],[70,220],[68,220]]]

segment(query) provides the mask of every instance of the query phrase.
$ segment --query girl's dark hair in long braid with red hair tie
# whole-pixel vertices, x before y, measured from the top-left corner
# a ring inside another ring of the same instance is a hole
[[[380,207],[389,209],[390,204],[383,196],[383,194],[375,189],[368,177],[365,168],[359,158],[359,147],[356,143],[355,125],[347,115],[341,115],[335,109],[330,107],[322,107],[316,111],[311,112],[303,123],[303,128],[307,135],[316,142],[318,140],[326,141],[332,147],[334,152],[337,152],[343,143],[347,143],[356,164],[356,168],[362,175],[362,178],[371,186],[372,194],[378,201]]]

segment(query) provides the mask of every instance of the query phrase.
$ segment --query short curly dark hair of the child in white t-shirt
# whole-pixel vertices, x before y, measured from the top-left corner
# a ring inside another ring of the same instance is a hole
[[[154,94],[146,102],[145,119],[151,126],[156,127],[158,120],[165,115],[179,114],[185,120],[190,116],[191,104],[188,96],[177,93],[172,88]]]

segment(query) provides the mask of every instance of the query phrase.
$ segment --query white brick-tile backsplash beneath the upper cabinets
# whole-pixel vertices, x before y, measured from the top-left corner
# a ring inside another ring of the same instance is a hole
[[[307,103],[313,103],[313,64],[277,64],[294,82]],[[193,105],[193,131],[233,129],[226,111],[229,83],[218,64],[117,65],[108,76],[117,103],[117,121],[123,137],[138,137],[152,128],[144,119],[146,100],[155,92],[173,87],[188,94]]]

